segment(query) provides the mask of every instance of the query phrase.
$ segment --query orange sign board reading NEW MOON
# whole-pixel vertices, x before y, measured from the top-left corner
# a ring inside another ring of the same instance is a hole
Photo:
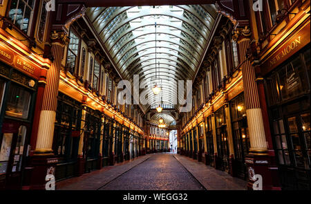
[[[298,33],[292,35],[271,57],[263,62],[261,65],[262,72],[264,74],[270,72],[308,43],[310,43],[310,22],[299,30]]]

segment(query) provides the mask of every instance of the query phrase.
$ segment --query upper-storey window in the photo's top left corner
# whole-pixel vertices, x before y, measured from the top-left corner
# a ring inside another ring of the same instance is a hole
[[[8,17],[12,19],[13,24],[27,35],[30,33],[34,7],[35,0],[13,0],[10,4]]]

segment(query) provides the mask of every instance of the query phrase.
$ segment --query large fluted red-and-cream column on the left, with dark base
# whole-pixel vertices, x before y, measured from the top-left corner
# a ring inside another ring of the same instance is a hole
[[[60,70],[64,56],[64,46],[68,43],[68,37],[60,32],[53,33],[51,39],[53,40],[51,53],[54,60],[46,75],[45,89],[43,87],[39,89],[39,95],[42,97],[43,92],[43,98],[39,98],[42,105],[37,107],[38,112],[35,115],[35,125],[38,124],[38,126],[32,132],[37,133],[37,136],[33,135],[31,141],[33,146],[30,157],[31,173],[28,175],[30,178],[29,189],[46,189],[48,181],[46,176],[48,174],[55,175],[55,167],[58,162],[53,154],[52,145]]]

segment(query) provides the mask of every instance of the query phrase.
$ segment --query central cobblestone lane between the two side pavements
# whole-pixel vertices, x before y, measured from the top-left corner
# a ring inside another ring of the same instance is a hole
[[[121,190],[202,190],[172,154],[155,154],[101,189]]]

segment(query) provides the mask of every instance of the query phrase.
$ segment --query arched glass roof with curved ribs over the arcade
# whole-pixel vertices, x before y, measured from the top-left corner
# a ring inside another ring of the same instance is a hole
[[[217,17],[214,5],[97,7],[86,14],[122,76],[132,82],[140,75],[150,93],[144,111],[161,101],[176,107],[178,80],[194,78]]]

